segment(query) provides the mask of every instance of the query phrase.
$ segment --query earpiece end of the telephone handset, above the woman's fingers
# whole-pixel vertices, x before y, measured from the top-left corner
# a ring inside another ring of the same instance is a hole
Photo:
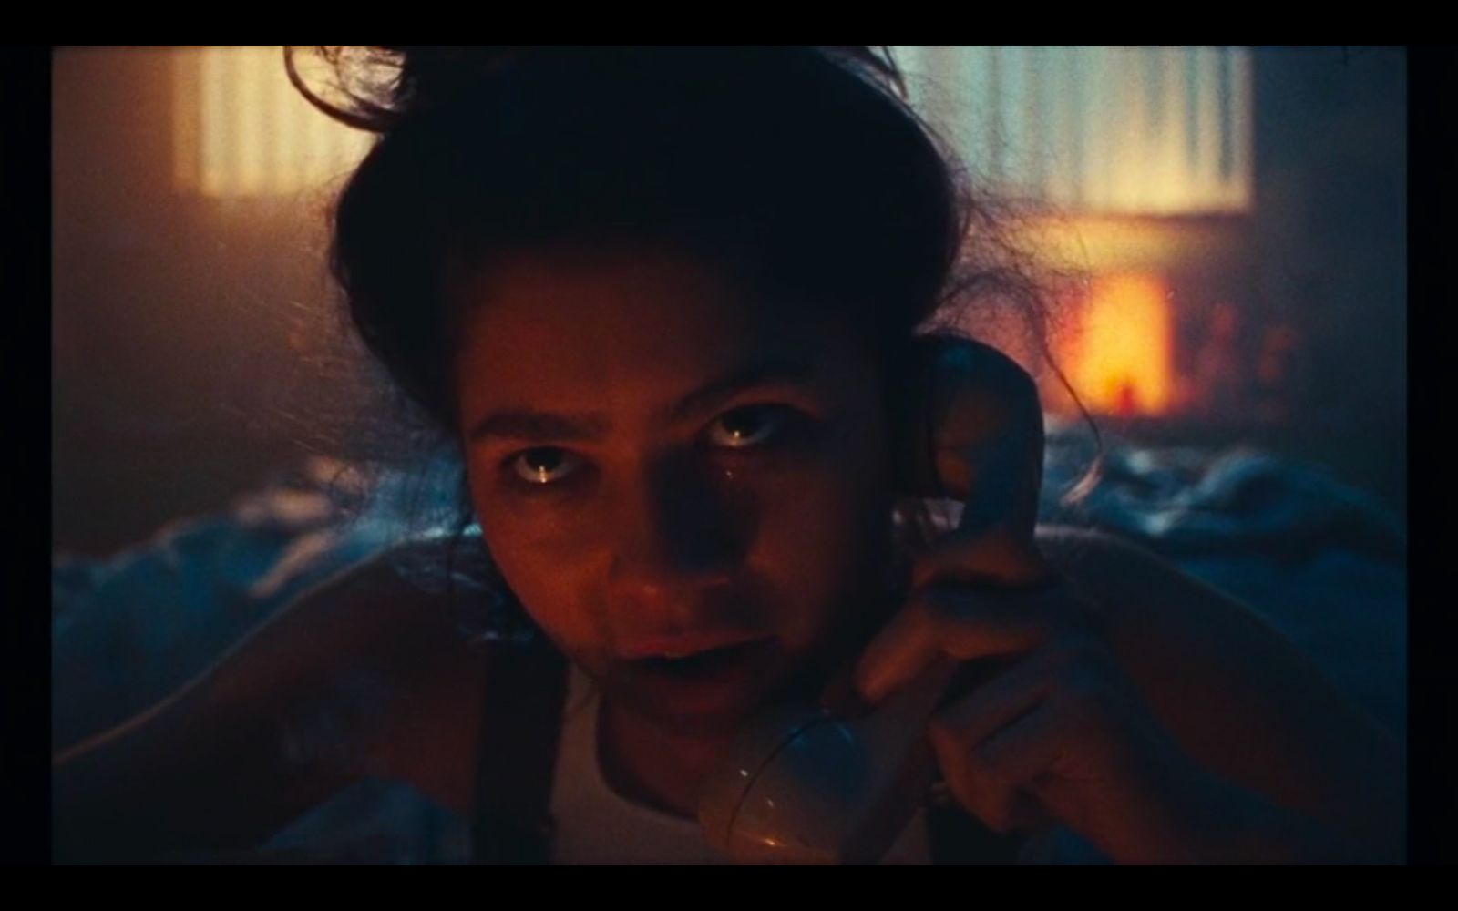
[[[965,504],[961,529],[1032,539],[1042,484],[1042,407],[1002,351],[955,335],[913,340],[894,402],[898,493]]]

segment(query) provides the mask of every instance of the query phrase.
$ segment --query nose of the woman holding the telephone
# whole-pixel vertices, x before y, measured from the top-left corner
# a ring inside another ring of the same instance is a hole
[[[682,459],[646,464],[614,512],[608,589],[620,606],[694,611],[742,560],[741,523],[725,491]]]

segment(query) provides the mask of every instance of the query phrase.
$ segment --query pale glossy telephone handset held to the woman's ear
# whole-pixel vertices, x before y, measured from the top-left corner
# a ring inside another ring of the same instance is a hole
[[[1032,379],[994,348],[943,335],[917,340],[904,376],[901,493],[962,501],[958,532],[1031,545],[1042,480]],[[879,860],[932,783],[923,732],[955,672],[951,659],[935,662],[860,719],[812,704],[751,719],[700,796],[710,844],[742,863]]]

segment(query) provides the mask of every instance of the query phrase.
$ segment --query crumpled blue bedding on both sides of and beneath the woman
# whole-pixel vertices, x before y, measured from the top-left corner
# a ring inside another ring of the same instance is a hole
[[[1098,484],[1077,504],[1064,503],[1092,452],[1086,436],[1050,430],[1042,522],[1121,535],[1239,598],[1406,738],[1407,532],[1391,512],[1319,466],[1270,453],[1117,440]],[[315,461],[287,482],[172,523],[114,557],[57,555],[52,746],[156,703],[293,596],[411,526],[388,494],[346,520],[338,477],[337,464]],[[402,787],[362,783],[271,844],[328,841],[341,831],[379,841],[392,828],[389,850],[373,860],[462,860],[459,821]]]

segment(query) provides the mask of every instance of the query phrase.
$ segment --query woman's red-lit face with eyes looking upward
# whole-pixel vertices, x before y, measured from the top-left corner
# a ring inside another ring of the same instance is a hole
[[[486,544],[607,698],[714,730],[849,657],[889,560],[863,344],[668,252],[519,257],[459,293]]]

